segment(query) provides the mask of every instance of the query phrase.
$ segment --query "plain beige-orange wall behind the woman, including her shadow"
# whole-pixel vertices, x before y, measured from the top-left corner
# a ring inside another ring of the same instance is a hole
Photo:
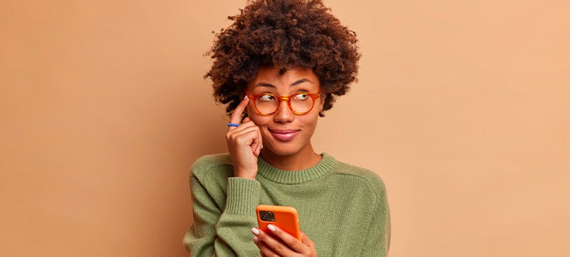
[[[0,1],[0,256],[186,256],[244,3]],[[570,256],[567,1],[326,3],[363,58],[313,142],[383,177],[390,255]]]

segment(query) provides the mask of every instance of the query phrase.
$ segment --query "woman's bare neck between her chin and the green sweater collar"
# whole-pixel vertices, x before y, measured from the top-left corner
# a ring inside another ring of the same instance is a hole
[[[280,170],[304,170],[315,166],[321,161],[321,155],[315,153],[310,143],[308,147],[293,155],[277,155],[268,148],[264,148],[260,155],[264,161]]]

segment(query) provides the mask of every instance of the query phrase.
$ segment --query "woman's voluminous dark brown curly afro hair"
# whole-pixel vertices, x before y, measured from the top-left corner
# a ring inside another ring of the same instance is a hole
[[[356,32],[341,25],[321,0],[253,0],[216,34],[214,59],[204,78],[210,78],[214,99],[231,113],[244,96],[247,82],[262,66],[278,67],[283,74],[297,67],[312,69],[325,95],[323,111],[356,81]],[[323,111],[319,112],[321,117]]]

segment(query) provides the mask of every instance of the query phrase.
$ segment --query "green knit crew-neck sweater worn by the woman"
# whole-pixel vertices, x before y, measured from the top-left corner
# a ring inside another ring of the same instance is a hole
[[[251,228],[259,204],[297,208],[318,256],[387,256],[390,213],[376,173],[323,153],[306,170],[286,171],[258,158],[256,180],[233,177],[228,154],[196,160],[190,175],[194,225],[183,244],[194,257],[259,256]]]

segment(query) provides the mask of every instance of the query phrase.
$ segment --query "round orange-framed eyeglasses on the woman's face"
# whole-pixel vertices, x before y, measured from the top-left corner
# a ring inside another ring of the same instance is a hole
[[[305,115],[315,106],[317,98],[321,97],[321,89],[317,93],[300,92],[290,96],[277,96],[273,93],[260,93],[252,95],[245,93],[253,102],[255,111],[260,115],[271,115],[279,109],[282,101],[287,101],[289,109],[296,115]]]

